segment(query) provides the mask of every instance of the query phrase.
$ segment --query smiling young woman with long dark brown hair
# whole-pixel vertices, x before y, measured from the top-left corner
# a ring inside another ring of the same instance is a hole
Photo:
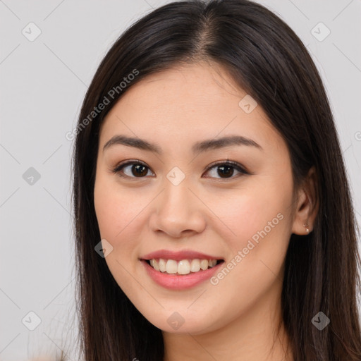
[[[333,116],[267,8],[174,2],[128,28],[85,96],[73,172],[85,360],[361,360]]]

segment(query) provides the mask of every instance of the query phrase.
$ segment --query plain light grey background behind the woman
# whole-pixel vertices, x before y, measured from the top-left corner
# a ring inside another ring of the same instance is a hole
[[[66,133],[106,50],[137,18],[168,2],[0,0],[0,360],[30,360],[60,348],[77,360],[73,142]],[[322,75],[360,224],[361,1],[259,2],[295,30]],[[32,42],[31,22],[41,30]],[[322,41],[326,29],[315,27],[319,22],[331,31]],[[27,178],[34,176],[30,167],[38,180]],[[35,326],[30,311],[41,319],[34,331],[25,326]]]

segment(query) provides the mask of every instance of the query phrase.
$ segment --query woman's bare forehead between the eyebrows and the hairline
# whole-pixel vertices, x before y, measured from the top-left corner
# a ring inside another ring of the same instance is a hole
[[[214,63],[178,66],[148,75],[119,99],[102,124],[100,145],[126,134],[164,145],[193,144],[238,134],[256,142],[280,141],[261,106],[243,109],[249,95]],[[254,104],[251,104],[254,106]]]

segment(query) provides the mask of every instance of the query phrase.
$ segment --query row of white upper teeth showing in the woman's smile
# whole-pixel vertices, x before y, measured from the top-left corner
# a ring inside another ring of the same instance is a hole
[[[216,259],[182,259],[177,262],[174,259],[149,259],[150,265],[156,270],[166,272],[167,274],[190,274],[206,270],[208,267],[214,267]]]

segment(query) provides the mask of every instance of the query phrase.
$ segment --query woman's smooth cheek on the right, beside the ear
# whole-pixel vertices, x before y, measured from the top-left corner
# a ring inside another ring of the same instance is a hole
[[[222,197],[221,202],[216,197],[213,200],[212,207],[216,207],[215,213],[222,221],[219,233],[226,240],[228,259],[233,260],[233,265],[237,264],[239,271],[244,270],[234,273],[240,277],[238,281],[245,283],[243,275],[252,270],[255,279],[262,283],[267,267],[278,274],[292,228],[293,178],[290,171],[281,176],[268,173],[257,181],[250,178],[243,189]]]

